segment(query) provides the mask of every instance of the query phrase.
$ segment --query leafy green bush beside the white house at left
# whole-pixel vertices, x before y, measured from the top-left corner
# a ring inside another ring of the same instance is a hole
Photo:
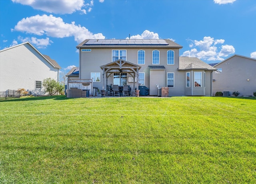
[[[63,91],[64,91],[64,85],[60,84],[53,78],[45,78],[43,81],[43,86],[45,88],[45,91],[49,93],[49,96],[52,96],[58,93],[63,94]]]

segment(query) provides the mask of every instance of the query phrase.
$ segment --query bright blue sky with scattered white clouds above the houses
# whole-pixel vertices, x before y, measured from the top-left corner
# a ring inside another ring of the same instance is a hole
[[[256,58],[256,0],[0,0],[0,49],[29,41],[68,72],[84,39],[172,39],[180,56]]]

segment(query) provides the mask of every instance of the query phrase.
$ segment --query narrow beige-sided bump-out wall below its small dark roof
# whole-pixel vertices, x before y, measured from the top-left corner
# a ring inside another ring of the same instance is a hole
[[[164,87],[164,72],[165,70],[150,70],[149,78],[149,95],[158,95],[159,88]]]

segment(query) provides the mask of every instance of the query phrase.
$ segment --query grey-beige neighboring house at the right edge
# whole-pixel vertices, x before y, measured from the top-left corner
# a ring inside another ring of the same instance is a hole
[[[233,55],[214,65],[213,94],[225,92],[232,95],[238,91],[240,96],[252,95],[256,91],[256,59]]]

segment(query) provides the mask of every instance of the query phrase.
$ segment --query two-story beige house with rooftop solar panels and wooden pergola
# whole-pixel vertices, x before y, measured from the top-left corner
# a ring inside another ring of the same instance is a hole
[[[93,78],[93,86],[128,84],[169,87],[169,96],[212,96],[214,67],[197,58],[179,57],[182,46],[170,39],[86,39],[80,53],[79,79]]]

